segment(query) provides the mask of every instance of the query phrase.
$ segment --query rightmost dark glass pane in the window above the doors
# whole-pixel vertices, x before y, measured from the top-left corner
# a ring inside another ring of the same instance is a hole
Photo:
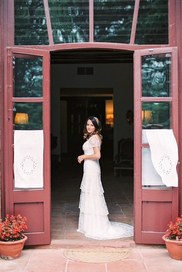
[[[135,44],[168,44],[168,0],[140,0]]]

